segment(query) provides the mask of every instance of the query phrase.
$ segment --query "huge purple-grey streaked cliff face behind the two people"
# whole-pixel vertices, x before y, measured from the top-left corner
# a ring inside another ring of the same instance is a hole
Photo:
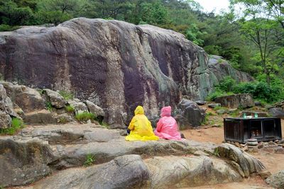
[[[75,18],[0,33],[4,79],[75,91],[104,108],[113,128],[128,124],[136,105],[152,118],[163,105],[175,109],[182,96],[204,99],[232,71],[239,81],[251,79],[229,64],[209,67],[208,59],[180,33],[122,21]]]

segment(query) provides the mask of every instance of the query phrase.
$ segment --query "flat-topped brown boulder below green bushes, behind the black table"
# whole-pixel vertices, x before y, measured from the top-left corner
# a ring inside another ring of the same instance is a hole
[[[250,108],[253,107],[253,98],[250,94],[234,94],[215,98],[216,103],[221,103],[227,108]]]

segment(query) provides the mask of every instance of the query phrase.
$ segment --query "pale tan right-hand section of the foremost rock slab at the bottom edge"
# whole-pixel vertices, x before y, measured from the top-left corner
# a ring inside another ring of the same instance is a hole
[[[159,156],[146,159],[145,162],[151,178],[148,188],[188,188],[204,183],[213,185],[242,180],[239,173],[231,169],[225,161],[207,156]]]

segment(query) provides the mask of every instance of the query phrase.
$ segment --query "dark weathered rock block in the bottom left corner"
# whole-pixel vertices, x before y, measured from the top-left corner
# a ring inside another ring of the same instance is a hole
[[[0,138],[1,186],[25,185],[51,173],[55,161],[48,142],[36,138]]]

